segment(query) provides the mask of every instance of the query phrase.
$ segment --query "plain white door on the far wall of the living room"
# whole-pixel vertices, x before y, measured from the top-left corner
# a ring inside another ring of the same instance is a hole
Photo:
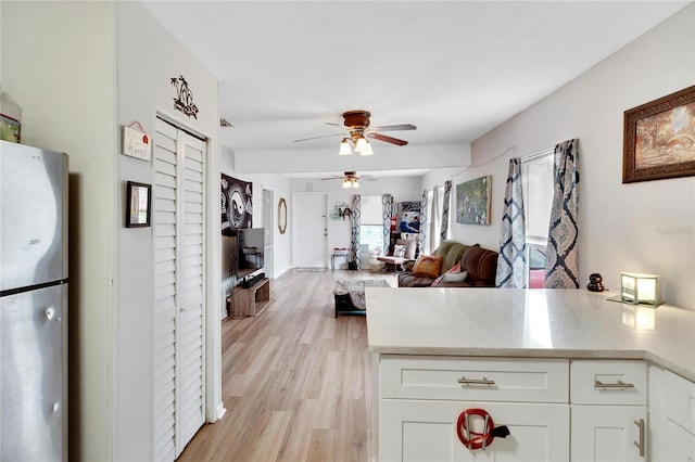
[[[292,266],[325,268],[328,261],[328,196],[292,194]]]

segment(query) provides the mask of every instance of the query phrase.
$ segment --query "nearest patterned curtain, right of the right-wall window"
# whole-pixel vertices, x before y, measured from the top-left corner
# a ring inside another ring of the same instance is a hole
[[[578,288],[579,140],[555,146],[555,187],[545,260],[545,287]]]

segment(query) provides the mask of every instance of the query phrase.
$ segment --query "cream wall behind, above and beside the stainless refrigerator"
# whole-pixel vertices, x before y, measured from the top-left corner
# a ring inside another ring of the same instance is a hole
[[[70,155],[71,460],[113,455],[113,8],[0,2],[2,89],[22,106],[22,141]]]

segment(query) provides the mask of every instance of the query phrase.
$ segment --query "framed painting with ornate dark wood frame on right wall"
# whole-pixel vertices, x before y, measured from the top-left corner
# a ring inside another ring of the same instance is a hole
[[[695,86],[624,112],[622,182],[695,175]]]

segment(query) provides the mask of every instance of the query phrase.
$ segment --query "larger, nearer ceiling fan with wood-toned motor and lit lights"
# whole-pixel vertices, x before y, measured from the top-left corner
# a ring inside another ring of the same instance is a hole
[[[355,152],[362,155],[370,155],[374,154],[371,151],[371,146],[367,141],[367,138],[371,138],[378,141],[383,141],[387,143],[395,144],[397,146],[404,146],[408,142],[405,140],[401,140],[399,138],[389,137],[387,134],[382,134],[382,131],[395,131],[395,130],[416,130],[417,127],[413,124],[400,124],[400,125],[384,125],[381,127],[369,127],[371,113],[368,111],[348,111],[343,113],[343,125],[336,123],[327,121],[326,125],[331,125],[334,127],[340,127],[348,130],[349,133],[331,133],[331,134],[320,134],[318,137],[309,137],[302,138],[301,140],[294,140],[294,142],[315,140],[317,138],[327,138],[327,137],[343,137],[342,142],[340,143],[340,155],[350,155],[352,154],[351,144],[354,147]],[[348,134],[348,137],[345,137]]]

